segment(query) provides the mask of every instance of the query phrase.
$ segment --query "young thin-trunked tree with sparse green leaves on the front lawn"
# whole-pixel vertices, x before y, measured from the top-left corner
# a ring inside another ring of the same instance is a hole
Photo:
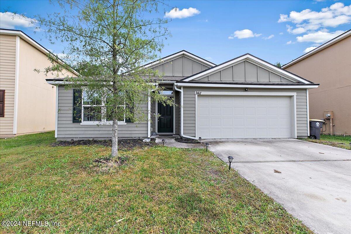
[[[160,95],[152,77],[157,71],[142,65],[158,58],[169,32],[167,20],[153,18],[156,0],[59,0],[64,13],[36,16],[47,39],[60,41],[66,64],[52,62],[45,73],[72,70],[81,75],[66,76],[66,88],[84,87],[82,118],[106,124],[112,120],[112,154],[118,155],[118,120],[142,121],[148,113],[141,106],[148,99],[172,105]],[[162,3],[161,3],[162,4]],[[57,59],[55,55],[48,56]],[[147,121],[150,121],[149,119]]]

